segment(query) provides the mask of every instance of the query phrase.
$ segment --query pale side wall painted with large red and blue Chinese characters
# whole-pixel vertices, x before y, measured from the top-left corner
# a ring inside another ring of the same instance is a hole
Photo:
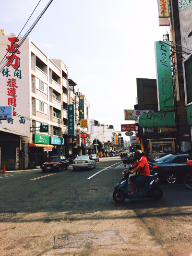
[[[0,35],[0,105],[12,108],[12,117],[0,119],[3,127],[30,135],[29,39],[20,47],[22,37]],[[6,53],[6,55],[5,55]]]

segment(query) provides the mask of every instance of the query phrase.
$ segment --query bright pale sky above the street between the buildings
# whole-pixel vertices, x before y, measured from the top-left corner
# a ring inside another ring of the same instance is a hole
[[[39,0],[7,0],[1,10],[5,35],[19,35]],[[23,37],[49,0],[41,0]],[[136,78],[156,79],[156,0],[53,0],[28,37],[50,59],[68,66],[68,78],[90,103],[90,117],[120,131],[124,111],[137,103]],[[122,133],[124,139],[129,138]]]

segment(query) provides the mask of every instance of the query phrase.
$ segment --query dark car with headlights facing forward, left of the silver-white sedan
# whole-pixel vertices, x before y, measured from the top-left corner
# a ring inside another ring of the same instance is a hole
[[[42,172],[46,171],[61,171],[62,169],[68,170],[69,160],[64,156],[49,157],[47,162],[41,166]]]

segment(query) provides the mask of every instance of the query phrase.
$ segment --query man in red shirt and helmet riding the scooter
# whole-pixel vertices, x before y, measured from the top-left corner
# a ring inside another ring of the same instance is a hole
[[[135,195],[136,188],[140,186],[142,183],[147,182],[150,177],[150,170],[147,158],[143,156],[142,151],[136,150],[134,153],[134,157],[137,159],[131,167],[131,169],[134,170],[129,172],[134,173],[138,171],[138,174],[132,175],[130,177],[131,190],[128,195]]]

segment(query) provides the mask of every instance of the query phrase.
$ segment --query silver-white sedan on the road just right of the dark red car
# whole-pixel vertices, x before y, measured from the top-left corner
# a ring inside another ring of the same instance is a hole
[[[78,156],[72,161],[73,171],[78,168],[96,168],[96,161],[91,156]]]

